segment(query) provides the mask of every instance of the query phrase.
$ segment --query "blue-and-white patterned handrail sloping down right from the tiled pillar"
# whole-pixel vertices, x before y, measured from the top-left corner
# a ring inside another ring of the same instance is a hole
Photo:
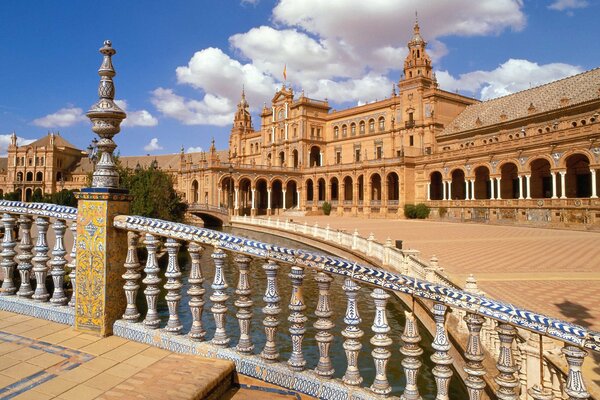
[[[249,256],[258,256],[279,260],[288,264],[323,270],[332,274],[350,277],[353,280],[369,285],[378,286],[382,289],[402,292],[442,303],[451,308],[462,309],[472,314],[480,314],[501,323],[512,324],[562,342],[585,347],[594,352],[600,352],[600,332],[527,309],[521,309],[510,303],[434,284],[407,275],[369,267],[338,257],[302,249],[280,247],[211,229],[140,216],[117,216],[114,219],[114,226],[172,239],[208,244]]]

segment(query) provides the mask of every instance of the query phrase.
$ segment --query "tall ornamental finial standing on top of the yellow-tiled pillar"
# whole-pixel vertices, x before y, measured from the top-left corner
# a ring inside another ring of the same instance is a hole
[[[115,85],[112,78],[116,72],[112,65],[112,56],[116,54],[116,51],[112,48],[110,40],[104,41],[100,53],[104,58],[98,70],[98,75],[100,75],[99,99],[86,114],[92,121],[92,130],[100,136],[98,150],[101,156],[94,171],[92,187],[116,189],[119,187],[119,175],[115,168],[113,152],[117,145],[112,138],[121,130],[121,122],[127,115],[114,102]]]

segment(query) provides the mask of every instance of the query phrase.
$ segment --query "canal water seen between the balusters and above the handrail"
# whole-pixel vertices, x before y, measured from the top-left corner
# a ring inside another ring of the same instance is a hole
[[[266,233],[248,231],[237,228],[224,228],[224,230],[231,232],[235,235],[244,236],[262,242],[275,242],[278,246],[302,248],[313,252],[322,252],[319,249],[311,248],[310,246],[299,244],[298,242],[288,240],[285,238],[275,237]],[[181,250],[182,251],[180,251],[179,262],[180,268],[183,273],[184,287],[182,289],[182,299],[179,305],[179,316],[184,325],[183,332],[187,333],[191,326],[191,314],[188,306],[189,296],[186,293],[187,288],[189,287],[189,285],[187,284],[187,277],[189,276],[190,258],[187,254],[187,251],[184,251],[183,248]],[[214,277],[214,264],[212,259],[210,258],[211,252],[212,248],[210,246],[206,246],[201,259],[202,274],[205,278],[203,286],[206,290],[206,293],[204,295],[204,300],[206,303],[204,305],[204,313],[202,316],[202,322],[204,328],[207,331],[207,336],[205,338],[206,340],[210,340],[215,331],[214,319],[212,317],[212,314],[210,313],[210,307],[212,306],[212,302],[209,299],[209,296],[212,293],[210,285]],[[235,346],[237,344],[237,339],[239,338],[239,326],[237,319],[235,318],[235,313],[237,309],[233,305],[233,302],[236,299],[234,290],[237,285],[238,269],[233,261],[233,258],[234,254],[227,252],[227,258],[225,262],[225,277],[227,280],[227,284],[229,285],[229,288],[226,290],[226,292],[229,294],[229,300],[227,301],[228,313],[226,321],[227,333],[229,337],[232,338],[232,341],[230,343],[231,346]],[[264,328],[262,326],[262,320],[264,318],[262,307],[265,305],[265,302],[263,301],[262,297],[265,292],[267,279],[266,274],[262,269],[262,265],[264,263],[265,260],[253,260],[250,264],[249,274],[250,285],[252,287],[252,298],[254,301],[253,318],[251,320],[251,335],[255,345],[255,354],[259,354],[265,344],[265,334]],[[164,277],[164,272],[167,264],[166,256],[161,258],[160,264],[160,276],[162,278],[160,286],[162,287],[164,285],[164,282],[166,281]],[[287,320],[287,317],[290,313],[288,309],[288,304],[291,295],[291,282],[290,278],[288,277],[289,272],[289,266],[287,266],[286,264],[280,264],[277,276],[277,283],[279,288],[279,294],[281,297],[280,307],[282,309],[282,312],[279,315],[280,324],[276,342],[280,354],[279,359],[281,361],[287,361],[291,353],[289,323]],[[306,333],[304,335],[302,349],[304,357],[306,359],[306,369],[314,369],[319,360],[317,342],[315,341],[315,334],[317,333],[317,330],[313,327],[314,322],[317,320],[317,317],[314,314],[314,310],[317,306],[319,292],[316,282],[314,280],[315,273],[311,270],[306,269],[305,275],[306,276],[304,278],[303,290],[304,301],[307,306],[305,310],[305,315],[308,317],[308,321],[306,323]],[[334,281],[331,283],[330,290],[330,305],[331,309],[334,312],[331,318],[335,323],[335,327],[331,330],[331,333],[334,336],[334,340],[331,344],[330,355],[332,358],[333,365],[335,367],[335,378],[341,378],[344,375],[346,366],[346,355],[342,347],[345,338],[341,334],[341,331],[345,328],[343,318],[346,311],[346,295],[342,289],[342,285],[343,278],[339,276],[334,276]],[[142,289],[140,289],[140,291],[138,292],[137,302],[140,307],[140,311],[143,311],[143,313],[145,313],[145,299],[142,291],[143,285]],[[165,301],[165,294],[166,291],[162,289],[162,292],[159,297],[160,300],[158,303],[159,313],[161,315],[161,322],[163,324],[162,326],[166,325],[166,320],[169,314],[167,304]],[[370,294],[371,288],[363,286],[359,291],[359,295],[357,297],[358,308],[360,316],[362,318],[362,323],[359,326],[364,332],[364,336],[362,337],[361,341],[363,347],[358,357],[358,365],[361,372],[361,376],[364,379],[361,386],[366,387],[371,385],[375,377],[373,358],[371,357],[371,351],[373,350],[373,346],[369,342],[370,338],[373,336],[373,332],[371,331],[371,325],[373,323],[375,307],[373,299],[370,297]],[[394,296],[390,297],[387,303],[387,317],[388,323],[391,328],[389,336],[393,339],[394,343],[392,346],[388,347],[388,350],[392,353],[392,357],[388,362],[387,375],[388,380],[390,381],[390,384],[393,387],[391,395],[395,396],[399,396],[402,393],[406,382],[401,365],[403,356],[400,353],[400,347],[402,345],[400,336],[402,335],[402,331],[404,329],[405,310],[407,310],[407,308],[404,305],[404,303],[402,303],[402,301],[395,298]],[[435,399],[435,379],[431,373],[434,364],[430,360],[430,357],[433,353],[433,349],[431,347],[433,338],[429,335],[428,331],[426,331],[423,326],[420,326],[419,332],[422,336],[420,345],[424,350],[423,355],[421,356],[423,366],[420,369],[418,378],[419,390],[424,399]],[[464,384],[457,377],[456,372],[454,373],[450,383],[450,398],[468,398]]]

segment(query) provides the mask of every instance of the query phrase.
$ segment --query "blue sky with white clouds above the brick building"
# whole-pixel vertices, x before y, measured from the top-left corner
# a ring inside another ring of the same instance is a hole
[[[110,39],[121,154],[227,148],[242,85],[257,112],[288,83],[341,109],[389,96],[418,10],[440,85],[488,99],[600,66],[598,0],[0,2],[0,154],[60,132],[84,149]]]

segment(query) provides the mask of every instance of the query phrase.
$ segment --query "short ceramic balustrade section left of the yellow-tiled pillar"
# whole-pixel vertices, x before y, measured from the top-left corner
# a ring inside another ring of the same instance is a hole
[[[77,208],[2,200],[0,213],[4,231],[0,295],[74,307],[71,294],[76,276]],[[52,248],[47,239],[49,230],[53,233]],[[37,237],[32,237],[32,232]],[[67,234],[73,239],[69,259],[65,249]]]

